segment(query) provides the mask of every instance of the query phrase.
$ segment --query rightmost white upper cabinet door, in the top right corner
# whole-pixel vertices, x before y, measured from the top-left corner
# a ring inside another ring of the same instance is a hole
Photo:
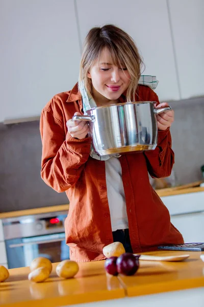
[[[204,1],[169,0],[182,98],[204,95]]]

